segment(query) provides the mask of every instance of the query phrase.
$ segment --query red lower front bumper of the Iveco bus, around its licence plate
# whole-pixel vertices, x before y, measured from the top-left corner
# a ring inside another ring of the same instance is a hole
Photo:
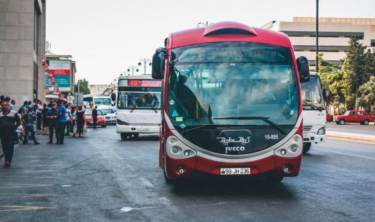
[[[207,160],[203,157],[195,156],[186,159],[174,159],[165,155],[165,174],[167,178],[194,178],[196,176],[221,176],[230,177],[238,175],[222,175],[222,168],[250,168],[250,174],[245,176],[261,176],[271,174],[272,176],[298,176],[301,167],[302,155],[294,158],[279,157],[271,155],[262,160],[253,162],[217,162]],[[288,167],[288,173],[284,172]],[[181,171],[183,169],[183,171]],[[182,173],[181,173],[182,172]],[[240,175],[244,176],[244,175]]]

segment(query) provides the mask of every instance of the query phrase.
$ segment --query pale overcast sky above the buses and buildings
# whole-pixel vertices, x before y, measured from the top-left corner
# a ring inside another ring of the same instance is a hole
[[[316,15],[316,0],[47,0],[46,5],[51,52],[71,55],[76,79],[90,85],[113,83],[141,59],[151,60],[169,33],[199,22],[260,27]],[[375,18],[374,8],[374,0],[320,0],[319,17]],[[143,63],[138,69],[144,73]]]

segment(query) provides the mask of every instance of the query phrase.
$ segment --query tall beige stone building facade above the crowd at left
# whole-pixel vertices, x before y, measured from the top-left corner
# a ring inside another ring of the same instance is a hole
[[[0,94],[44,101],[46,0],[0,1]]]

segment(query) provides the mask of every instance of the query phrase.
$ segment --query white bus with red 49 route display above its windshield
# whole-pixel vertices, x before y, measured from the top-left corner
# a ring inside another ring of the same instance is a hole
[[[151,75],[119,77],[116,131],[121,139],[160,133],[161,85]]]

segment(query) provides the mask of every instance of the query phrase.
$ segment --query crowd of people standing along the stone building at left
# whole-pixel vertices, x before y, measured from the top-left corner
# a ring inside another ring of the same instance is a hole
[[[40,100],[24,101],[15,110],[16,102],[9,96],[0,96],[0,139],[5,155],[3,167],[10,167],[14,145],[17,140],[17,128],[23,126],[24,139],[22,144],[28,145],[32,139],[38,145],[36,135],[49,135],[49,142],[53,144],[53,133],[56,143],[64,144],[64,137],[83,137],[85,131],[85,109],[82,106],[73,108],[67,101],[50,101],[48,104]],[[35,130],[36,123],[36,130]]]

